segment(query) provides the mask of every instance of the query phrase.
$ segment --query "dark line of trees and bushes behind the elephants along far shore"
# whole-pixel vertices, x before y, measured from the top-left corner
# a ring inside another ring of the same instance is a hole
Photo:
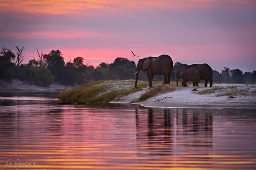
[[[0,78],[18,78],[22,81],[49,86],[53,81],[64,85],[87,84],[90,81],[135,79],[136,65],[127,58],[116,58],[113,63],[100,63],[94,68],[90,63],[84,63],[84,58],[76,57],[64,61],[59,50],[52,50],[48,54],[38,52],[38,58],[33,57],[27,64],[23,61],[24,47],[15,46],[17,52],[1,47],[0,51]],[[187,64],[176,62],[174,73],[184,69]],[[139,80],[148,81],[146,72],[140,72]],[[163,75],[154,76],[153,81],[163,81]],[[240,69],[224,67],[221,72],[213,70],[215,83],[256,83],[256,71],[242,72]]]

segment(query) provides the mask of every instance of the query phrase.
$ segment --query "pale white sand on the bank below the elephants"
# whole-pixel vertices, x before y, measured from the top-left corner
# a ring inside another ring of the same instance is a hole
[[[209,85],[209,84],[208,84]],[[213,89],[215,87],[221,87],[223,89],[215,90],[213,93],[202,94],[199,92],[206,89]],[[198,91],[191,92],[193,89]],[[120,98],[118,101],[112,103],[131,103],[134,100],[140,98],[145,89],[140,92],[132,93],[128,96]],[[224,94],[226,92],[237,91],[243,95],[234,95],[236,98],[227,98],[227,96],[219,96],[218,94]],[[245,94],[245,95],[244,95]],[[223,107],[250,107],[256,108],[256,84],[213,84],[213,87],[175,87],[175,91],[170,91],[164,94],[157,95],[149,98],[143,102],[136,102],[133,104],[140,104],[144,107],[163,107],[163,108],[223,108]]]

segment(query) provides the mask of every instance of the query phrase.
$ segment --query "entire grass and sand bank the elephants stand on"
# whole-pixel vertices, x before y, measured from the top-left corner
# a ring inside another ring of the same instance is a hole
[[[137,103],[161,105],[193,106],[255,106],[256,84],[214,84],[213,87],[182,87],[176,82],[163,84],[154,82],[153,88],[148,88],[148,82],[138,82],[134,88],[134,80],[94,81],[80,87],[61,92],[59,99],[72,103]],[[209,84],[208,84],[209,85]],[[197,89],[197,91],[193,90]],[[227,100],[233,95],[235,99]]]

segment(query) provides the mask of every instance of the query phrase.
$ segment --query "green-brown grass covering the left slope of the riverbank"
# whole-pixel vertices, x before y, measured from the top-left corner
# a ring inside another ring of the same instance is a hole
[[[95,103],[118,100],[119,98],[134,92],[143,91],[136,101],[145,101],[159,93],[174,90],[175,82],[163,84],[163,82],[153,82],[153,88],[148,89],[148,82],[140,81],[137,89],[134,88],[134,80],[114,80],[114,81],[93,81],[83,86],[65,90],[59,97],[62,101],[73,103]],[[145,91],[145,92],[144,92]]]

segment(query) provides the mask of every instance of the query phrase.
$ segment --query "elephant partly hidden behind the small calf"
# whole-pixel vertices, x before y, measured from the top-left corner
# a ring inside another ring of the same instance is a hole
[[[210,82],[210,87],[212,87],[212,68],[208,64],[192,64],[185,67],[185,69],[191,68],[198,69],[200,80],[205,81],[205,87],[207,87],[208,81]]]

